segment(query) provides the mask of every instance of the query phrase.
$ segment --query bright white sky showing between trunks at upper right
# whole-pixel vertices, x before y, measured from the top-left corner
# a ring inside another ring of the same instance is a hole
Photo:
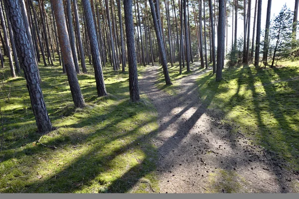
[[[272,0],[272,6],[271,6],[271,20],[274,19],[275,16],[277,16],[282,9],[282,7],[287,4],[287,7],[290,8],[292,11],[294,11],[295,7],[295,0]],[[265,29],[266,25],[266,16],[267,16],[267,5],[268,0],[262,1],[262,21],[261,21],[261,28],[262,30]],[[252,32],[253,32],[253,17],[254,17],[254,9],[255,9],[255,0],[252,0],[251,5],[251,29],[250,29],[250,38],[252,38]],[[232,17],[228,18],[228,24],[232,24]],[[239,14],[238,19],[238,37],[243,35],[243,17]],[[232,40],[232,27],[228,27],[228,46],[231,45]]]

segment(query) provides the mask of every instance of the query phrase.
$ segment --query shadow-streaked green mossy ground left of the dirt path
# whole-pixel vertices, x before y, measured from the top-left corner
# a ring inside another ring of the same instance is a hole
[[[44,100],[57,127],[40,142],[57,147],[51,149],[36,142],[41,135],[36,132],[23,75],[10,78],[5,63],[6,68],[0,69],[4,127],[0,193],[158,191],[156,148],[151,144],[157,129],[156,111],[145,95],[140,102],[130,102],[127,72],[104,67],[109,95],[99,98],[93,67],[88,65],[89,73],[78,75],[87,105],[75,109],[67,76],[58,62],[39,65]]]

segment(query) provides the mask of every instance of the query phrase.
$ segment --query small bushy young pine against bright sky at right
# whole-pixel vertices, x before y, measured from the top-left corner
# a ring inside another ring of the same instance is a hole
[[[274,66],[274,61],[278,49],[284,49],[292,39],[292,15],[292,11],[289,8],[287,8],[287,5],[285,4],[278,16],[276,16],[274,19],[273,31],[276,38],[276,45],[274,48],[271,68],[273,68]]]

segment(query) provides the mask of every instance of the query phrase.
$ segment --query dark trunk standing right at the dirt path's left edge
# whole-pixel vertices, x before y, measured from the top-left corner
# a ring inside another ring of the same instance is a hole
[[[138,75],[137,75],[137,59],[136,59],[136,51],[135,51],[132,0],[124,0],[124,11],[125,11],[126,37],[127,37],[127,49],[128,49],[128,63],[129,63],[130,99],[132,101],[139,101],[140,96],[139,96]]]

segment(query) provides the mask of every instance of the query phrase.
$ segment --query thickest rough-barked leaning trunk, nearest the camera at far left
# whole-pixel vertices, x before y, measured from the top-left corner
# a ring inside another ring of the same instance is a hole
[[[16,50],[21,68],[24,71],[37,130],[38,132],[44,133],[52,130],[52,124],[40,88],[37,64],[34,52],[32,52],[33,47],[27,39],[30,36],[26,33],[26,28],[28,27],[25,26],[22,19],[21,5],[23,4],[18,1],[19,0],[5,0],[8,8],[6,11],[10,16]]]

